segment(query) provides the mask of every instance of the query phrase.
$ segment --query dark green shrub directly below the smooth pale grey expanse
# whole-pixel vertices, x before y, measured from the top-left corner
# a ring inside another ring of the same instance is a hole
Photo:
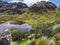
[[[26,37],[24,32],[16,30],[11,31],[11,35],[13,41],[22,41]]]

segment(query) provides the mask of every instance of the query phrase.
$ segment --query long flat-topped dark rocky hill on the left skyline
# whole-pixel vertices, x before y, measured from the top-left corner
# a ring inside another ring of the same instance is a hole
[[[9,13],[24,13],[23,9],[28,8],[28,6],[25,3],[22,2],[14,2],[14,3],[8,3],[0,1],[0,12],[9,12]]]

